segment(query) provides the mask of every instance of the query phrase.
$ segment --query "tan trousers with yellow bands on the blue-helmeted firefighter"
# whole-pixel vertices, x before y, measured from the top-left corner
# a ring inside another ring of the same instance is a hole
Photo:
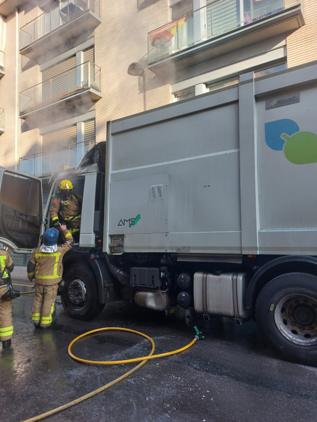
[[[47,328],[52,324],[52,314],[57,296],[58,284],[42,286],[35,284],[32,322],[34,325]]]

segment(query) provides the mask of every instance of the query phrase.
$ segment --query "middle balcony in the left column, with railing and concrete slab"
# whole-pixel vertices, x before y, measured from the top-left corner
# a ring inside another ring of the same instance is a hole
[[[20,92],[19,116],[41,127],[84,114],[102,97],[100,80],[95,63],[75,66]]]

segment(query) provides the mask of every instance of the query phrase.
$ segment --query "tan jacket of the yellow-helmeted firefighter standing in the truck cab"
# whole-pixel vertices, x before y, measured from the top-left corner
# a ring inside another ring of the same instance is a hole
[[[79,231],[80,219],[81,219],[81,204],[82,196],[78,194],[71,194],[66,199],[62,198],[62,195],[57,193],[52,199],[51,207],[49,208],[49,215],[51,216],[54,227],[57,227],[59,223],[66,222],[67,227],[71,229],[71,232]]]

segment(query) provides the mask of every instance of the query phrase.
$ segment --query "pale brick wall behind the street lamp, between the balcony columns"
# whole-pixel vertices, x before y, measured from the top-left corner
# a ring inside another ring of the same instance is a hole
[[[150,3],[150,2],[149,2]],[[102,99],[96,103],[96,140],[106,139],[108,120],[143,111],[142,78],[130,76],[128,66],[147,65],[147,35],[170,21],[168,0],[137,9],[137,1],[101,1],[101,24],[95,30],[95,62],[101,67]],[[147,108],[172,101],[170,85],[146,70]]]

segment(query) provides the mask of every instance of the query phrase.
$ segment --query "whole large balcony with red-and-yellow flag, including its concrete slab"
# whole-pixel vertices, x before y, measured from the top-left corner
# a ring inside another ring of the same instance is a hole
[[[169,76],[303,26],[301,0],[216,0],[148,33],[148,68]],[[248,8],[243,8],[249,4]]]

